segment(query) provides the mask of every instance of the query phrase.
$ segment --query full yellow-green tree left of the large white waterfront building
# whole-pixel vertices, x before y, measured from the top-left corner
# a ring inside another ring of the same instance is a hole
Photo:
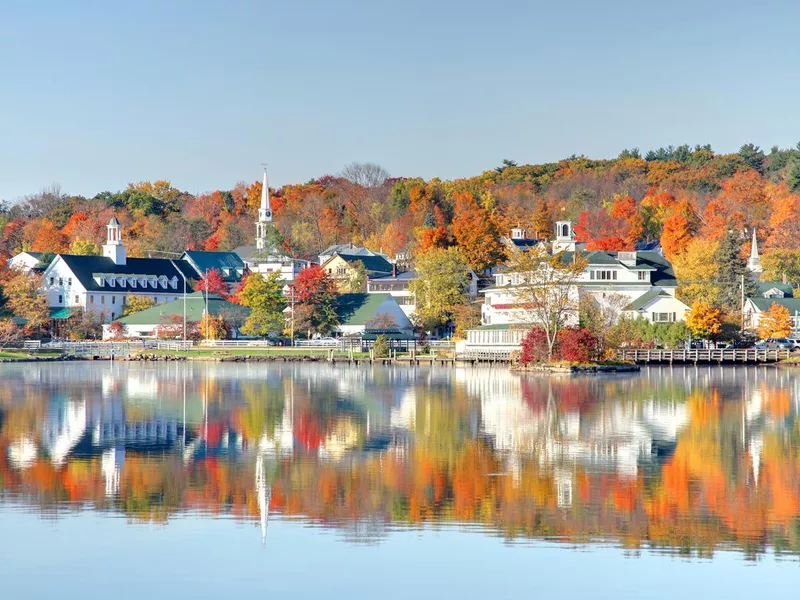
[[[415,312],[426,330],[447,323],[467,301],[469,263],[460,248],[434,248],[417,259],[417,277],[409,289],[417,300]]]

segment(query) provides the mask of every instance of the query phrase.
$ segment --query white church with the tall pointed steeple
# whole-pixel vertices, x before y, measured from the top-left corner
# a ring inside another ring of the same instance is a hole
[[[275,240],[277,238],[269,197],[267,170],[265,168],[264,182],[261,187],[261,205],[258,209],[258,221],[256,222],[256,245],[239,246],[234,252],[254,273],[261,273],[264,276],[280,273],[281,281],[285,284],[284,291],[287,291],[289,285],[294,282],[300,271],[310,266],[311,263],[301,258],[288,256],[276,246]]]

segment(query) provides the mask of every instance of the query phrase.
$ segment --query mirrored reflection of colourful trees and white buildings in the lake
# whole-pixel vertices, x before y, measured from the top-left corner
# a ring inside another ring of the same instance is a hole
[[[692,555],[800,550],[800,379],[327,365],[5,365],[0,500],[270,514],[375,542],[461,523]]]

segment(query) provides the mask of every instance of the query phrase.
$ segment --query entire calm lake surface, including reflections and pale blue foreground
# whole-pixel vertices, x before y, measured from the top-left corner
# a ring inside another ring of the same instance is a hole
[[[799,408],[768,368],[0,365],[2,597],[793,589]]]

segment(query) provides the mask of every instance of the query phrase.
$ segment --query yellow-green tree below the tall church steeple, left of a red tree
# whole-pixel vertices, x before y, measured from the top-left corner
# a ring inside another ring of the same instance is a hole
[[[280,273],[264,277],[251,273],[236,292],[236,301],[250,309],[250,315],[242,326],[245,335],[265,337],[270,333],[281,333],[286,324],[284,309],[286,299]]]

